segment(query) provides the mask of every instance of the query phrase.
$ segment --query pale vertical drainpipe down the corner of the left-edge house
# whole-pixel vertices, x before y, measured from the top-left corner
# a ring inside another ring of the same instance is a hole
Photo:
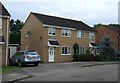
[[[9,49],[9,18],[7,17],[7,33],[6,33],[6,64],[5,66],[8,66],[8,49]]]

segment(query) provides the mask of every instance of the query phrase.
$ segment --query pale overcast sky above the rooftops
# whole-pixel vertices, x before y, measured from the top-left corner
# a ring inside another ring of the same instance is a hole
[[[0,0],[11,18],[25,21],[30,12],[98,23],[118,23],[120,0]]]

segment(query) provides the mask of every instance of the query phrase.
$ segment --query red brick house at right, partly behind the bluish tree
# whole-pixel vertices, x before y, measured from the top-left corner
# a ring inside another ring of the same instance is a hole
[[[99,44],[101,39],[105,36],[111,36],[113,41],[113,48],[118,51],[120,49],[120,27],[99,25],[96,27],[96,43]]]

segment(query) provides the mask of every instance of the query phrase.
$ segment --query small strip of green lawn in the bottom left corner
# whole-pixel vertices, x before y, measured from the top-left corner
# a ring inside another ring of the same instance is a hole
[[[21,70],[21,67],[16,66],[8,66],[8,67],[0,67],[0,73],[12,73]]]

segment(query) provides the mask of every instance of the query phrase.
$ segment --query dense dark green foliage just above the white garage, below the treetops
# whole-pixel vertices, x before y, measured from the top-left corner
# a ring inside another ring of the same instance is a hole
[[[10,39],[9,39],[10,44],[20,44],[20,40],[21,40],[20,32],[11,32],[10,33]]]

